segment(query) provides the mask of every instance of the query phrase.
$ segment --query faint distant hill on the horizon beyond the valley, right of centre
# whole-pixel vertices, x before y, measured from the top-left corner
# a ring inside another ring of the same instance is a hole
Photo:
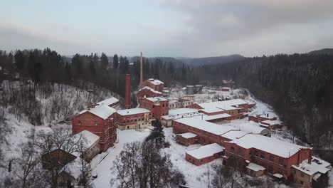
[[[182,61],[189,66],[206,66],[206,65],[215,65],[223,63],[231,63],[233,61],[242,60],[244,56],[238,54],[233,54],[230,56],[216,56],[216,57],[207,57],[207,58],[179,58],[179,61]]]

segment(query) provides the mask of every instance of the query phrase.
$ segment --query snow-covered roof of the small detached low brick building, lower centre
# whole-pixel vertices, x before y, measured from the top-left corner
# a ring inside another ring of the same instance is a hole
[[[210,157],[218,152],[223,152],[225,148],[221,145],[213,143],[211,145],[204,145],[201,147],[194,148],[192,150],[187,150],[186,154],[200,160],[206,157]]]

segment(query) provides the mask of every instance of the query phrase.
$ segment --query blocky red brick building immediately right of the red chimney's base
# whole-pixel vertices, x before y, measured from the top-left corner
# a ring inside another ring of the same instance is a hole
[[[161,122],[161,117],[169,114],[169,100],[161,97],[139,98],[139,108],[150,110],[149,118]]]

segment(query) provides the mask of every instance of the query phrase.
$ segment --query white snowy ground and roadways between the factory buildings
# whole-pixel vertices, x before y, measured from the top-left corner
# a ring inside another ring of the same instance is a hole
[[[181,88],[179,89],[181,90]],[[179,90],[173,90],[171,92],[171,95],[173,97],[179,97]],[[212,91],[212,90],[211,90]],[[252,96],[244,95],[243,90],[232,90],[230,92],[222,92],[220,90],[215,90],[218,95],[223,96],[223,98],[233,98],[233,96],[242,97],[249,100],[255,100],[257,102],[256,108],[253,109],[252,112],[250,112],[250,115],[257,115],[262,113],[272,113],[272,115],[275,115],[273,108],[271,108],[269,105],[262,103]],[[181,90],[181,95],[184,94],[184,90]],[[180,95],[180,96],[181,96]],[[203,100],[202,102],[212,101],[213,98],[216,98],[215,94],[202,94],[202,95],[196,95],[196,100]],[[248,118],[244,118],[242,120],[233,120],[230,122],[230,125],[238,125],[243,122],[248,122]],[[221,125],[223,126],[223,125]],[[259,125],[258,125],[259,126]],[[93,160],[92,166],[95,167],[93,169],[93,174],[97,174],[98,177],[93,181],[93,184],[95,187],[110,187],[110,179],[111,177],[115,177],[116,174],[110,172],[110,167],[112,166],[112,162],[115,160],[115,157],[119,155],[119,153],[122,150],[122,147],[127,142],[134,142],[134,141],[142,141],[145,137],[149,135],[149,130],[141,130],[141,131],[135,131],[135,130],[118,130],[117,132],[117,138],[119,140],[119,143],[115,144],[115,147],[110,148],[107,150],[107,152],[102,153],[101,155],[97,156]],[[185,154],[186,150],[199,147],[201,145],[191,145],[189,147],[186,147],[184,145],[179,145],[176,143],[174,135],[172,133],[172,127],[164,128],[164,135],[166,137],[166,141],[168,141],[171,145],[169,148],[162,149],[164,152],[169,153],[171,157],[171,162],[174,164],[175,167],[177,167],[185,177],[185,180],[187,182],[186,185],[189,187],[194,188],[204,188],[208,186],[208,178],[203,175],[204,172],[207,171],[209,167],[211,167],[211,164],[216,162],[221,162],[222,159],[214,160],[213,162],[209,162],[207,164],[203,164],[201,166],[196,166],[194,164],[191,164],[190,162],[187,162],[185,160]],[[272,137],[275,137],[280,140],[285,140],[287,142],[292,142],[292,136],[288,132],[273,132]],[[106,155],[106,157],[105,157]],[[102,162],[100,160],[102,157],[105,157]],[[99,164],[97,164],[100,162]],[[268,177],[263,177],[268,178]],[[276,184],[275,187],[287,187],[284,184]]]

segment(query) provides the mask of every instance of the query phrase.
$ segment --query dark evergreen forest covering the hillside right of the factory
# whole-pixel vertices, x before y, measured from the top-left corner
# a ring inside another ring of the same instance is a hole
[[[332,150],[333,56],[293,54],[199,68],[202,79],[220,85],[236,80],[273,106],[280,118],[314,149]]]

